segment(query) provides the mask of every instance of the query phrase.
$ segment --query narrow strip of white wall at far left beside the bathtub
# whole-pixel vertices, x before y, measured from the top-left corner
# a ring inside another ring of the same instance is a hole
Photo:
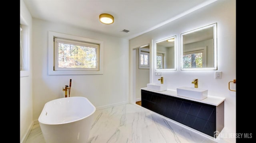
[[[23,0],[20,0],[20,23],[28,27],[28,71],[21,71],[20,76],[20,142],[26,140],[27,134],[33,126],[32,118],[32,69],[30,60],[30,43],[32,34],[32,17]],[[24,74],[25,73],[25,74]]]

